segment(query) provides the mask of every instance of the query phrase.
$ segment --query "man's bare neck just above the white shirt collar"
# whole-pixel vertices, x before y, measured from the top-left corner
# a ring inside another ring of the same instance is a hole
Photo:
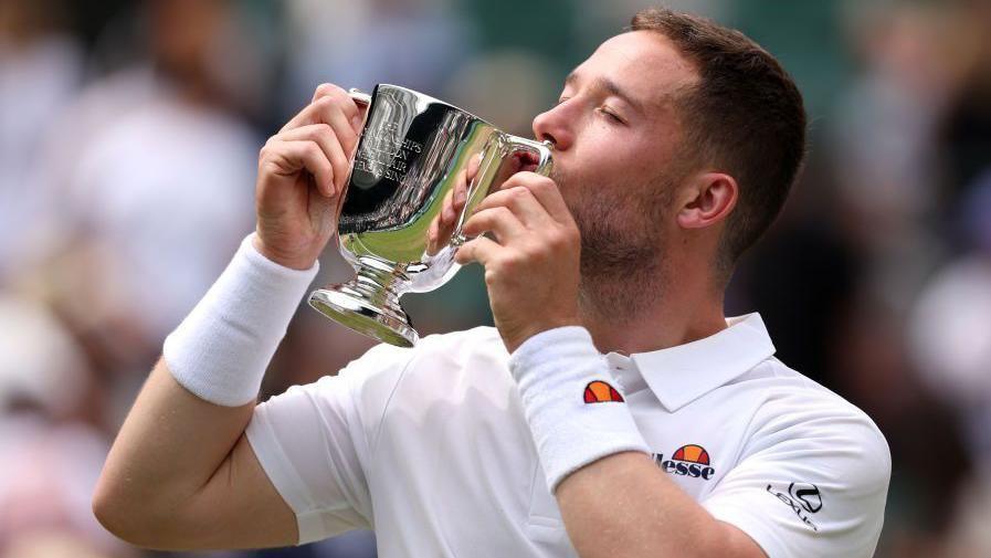
[[[616,304],[616,293],[603,296],[583,288],[581,319],[601,352],[647,352],[703,339],[726,328],[723,292],[706,275],[679,270],[674,281],[661,285],[633,285],[610,281],[613,291],[625,289],[635,304]],[[663,276],[663,275],[662,275]],[[693,280],[692,277],[696,277]],[[598,282],[597,282],[598,283]],[[654,292],[655,296],[644,297]]]

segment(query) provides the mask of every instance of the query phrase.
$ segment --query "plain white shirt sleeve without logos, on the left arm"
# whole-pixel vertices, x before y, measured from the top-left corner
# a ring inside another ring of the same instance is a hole
[[[408,350],[375,347],[337,376],[294,386],[255,407],[245,434],[296,515],[299,545],[373,527],[369,440],[391,393],[386,383],[394,382]]]

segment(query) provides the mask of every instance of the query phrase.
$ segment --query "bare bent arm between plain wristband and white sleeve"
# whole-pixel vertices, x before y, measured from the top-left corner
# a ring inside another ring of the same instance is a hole
[[[116,536],[160,549],[292,544],[292,510],[244,435],[256,408],[193,396],[156,365],[114,442],[93,512]]]

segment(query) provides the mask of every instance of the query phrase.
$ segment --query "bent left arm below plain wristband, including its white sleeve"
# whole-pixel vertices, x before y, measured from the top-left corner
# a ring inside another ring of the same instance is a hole
[[[409,360],[398,350],[372,349],[337,376],[240,408],[199,399],[160,361],[107,457],[94,514],[118,537],[161,549],[369,528],[369,436]]]

